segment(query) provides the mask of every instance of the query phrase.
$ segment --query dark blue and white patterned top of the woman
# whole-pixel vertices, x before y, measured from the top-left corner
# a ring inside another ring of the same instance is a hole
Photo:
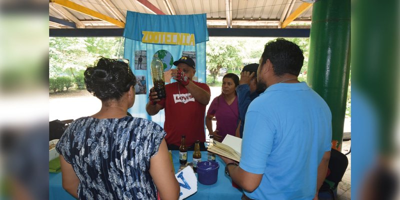
[[[143,118],[74,120],[56,145],[80,180],[79,199],[157,199],[149,173],[165,132]]]

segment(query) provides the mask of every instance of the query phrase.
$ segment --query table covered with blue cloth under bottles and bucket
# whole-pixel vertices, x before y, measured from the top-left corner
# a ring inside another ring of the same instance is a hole
[[[192,161],[193,151],[187,151],[187,161]],[[201,160],[207,159],[207,151],[201,151]],[[179,151],[172,151],[173,167],[175,173],[179,169]],[[185,198],[188,200],[195,199],[240,199],[241,190],[232,186],[230,177],[225,175],[225,163],[216,156],[215,161],[219,163],[218,179],[215,184],[203,185],[197,181],[197,192]],[[197,173],[196,173],[197,176]],[[75,199],[62,188],[61,173],[49,173],[49,199]]]

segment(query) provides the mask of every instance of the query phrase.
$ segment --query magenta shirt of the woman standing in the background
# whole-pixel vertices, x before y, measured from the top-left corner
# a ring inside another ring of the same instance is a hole
[[[239,115],[237,107],[237,96],[228,105],[223,96],[215,97],[208,107],[207,114],[215,115],[216,130],[218,134],[225,138],[226,134],[235,135],[237,119]]]

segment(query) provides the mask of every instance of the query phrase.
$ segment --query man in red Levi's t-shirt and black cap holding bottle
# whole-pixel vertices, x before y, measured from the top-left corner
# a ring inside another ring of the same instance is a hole
[[[184,134],[189,150],[193,149],[196,140],[200,141],[200,150],[205,150],[204,114],[210,89],[207,84],[192,80],[196,70],[190,57],[182,56],[173,65],[177,66],[171,69],[176,82],[165,85],[166,97],[162,99],[157,98],[157,92],[151,88],[146,111],[154,115],[165,108],[164,130],[168,149],[178,150]]]

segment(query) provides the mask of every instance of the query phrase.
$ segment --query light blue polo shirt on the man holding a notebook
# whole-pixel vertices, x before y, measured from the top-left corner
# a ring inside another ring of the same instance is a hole
[[[249,105],[240,167],[262,174],[255,199],[312,199],[317,168],[331,148],[331,113],[305,82],[269,86]]]

